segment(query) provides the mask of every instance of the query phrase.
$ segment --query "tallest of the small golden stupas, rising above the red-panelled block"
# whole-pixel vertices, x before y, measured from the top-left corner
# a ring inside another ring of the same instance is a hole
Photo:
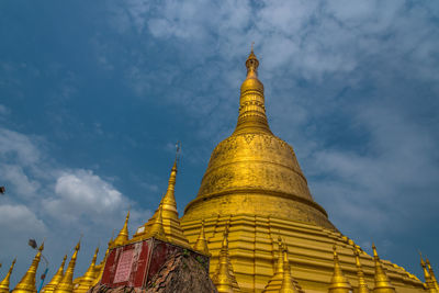
[[[158,216],[159,210],[161,210],[162,228],[168,241],[188,248],[191,247],[180,226],[180,218],[177,211],[177,202],[175,195],[177,182],[177,161],[178,157],[176,156],[176,160],[173,161],[171,173],[169,176],[167,191],[161,198],[157,211],[154,213],[148,223],[146,223],[144,227],[140,227],[142,232],[134,235],[134,239],[146,238],[146,235],[148,235],[148,229],[150,229],[150,226],[155,223],[155,219]]]

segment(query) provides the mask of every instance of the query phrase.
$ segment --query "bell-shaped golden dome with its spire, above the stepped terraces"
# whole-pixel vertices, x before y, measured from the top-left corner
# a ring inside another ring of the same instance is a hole
[[[293,148],[267,122],[259,61],[251,50],[235,132],[213,150],[195,200],[183,219],[248,213],[335,229],[314,202]]]

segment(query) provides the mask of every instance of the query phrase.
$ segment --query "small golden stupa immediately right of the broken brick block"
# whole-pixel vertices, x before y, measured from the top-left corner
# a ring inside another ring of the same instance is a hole
[[[218,293],[234,292],[233,280],[229,272],[227,229],[224,232],[216,272],[212,278]]]

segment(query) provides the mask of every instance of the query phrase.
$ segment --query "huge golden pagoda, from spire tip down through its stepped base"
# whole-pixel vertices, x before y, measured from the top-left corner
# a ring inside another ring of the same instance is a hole
[[[305,292],[327,292],[334,244],[345,277],[357,290],[356,245],[314,201],[293,148],[270,131],[258,66],[251,49],[236,128],[213,150],[198,195],[184,209],[181,228],[192,246],[204,229],[213,277],[221,263],[223,232],[229,227],[228,259],[241,292],[262,292],[279,272],[278,235],[291,248],[292,277]],[[373,283],[373,258],[365,252],[359,258],[365,282]],[[424,290],[403,268],[385,260],[380,266],[398,292]]]

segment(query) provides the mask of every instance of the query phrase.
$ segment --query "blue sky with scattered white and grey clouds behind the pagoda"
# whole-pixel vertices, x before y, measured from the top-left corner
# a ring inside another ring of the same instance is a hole
[[[180,214],[234,129],[251,42],[272,131],[370,251],[439,270],[437,1],[1,1],[0,261],[54,272],[151,215],[182,142]],[[101,255],[102,257],[102,255]]]

